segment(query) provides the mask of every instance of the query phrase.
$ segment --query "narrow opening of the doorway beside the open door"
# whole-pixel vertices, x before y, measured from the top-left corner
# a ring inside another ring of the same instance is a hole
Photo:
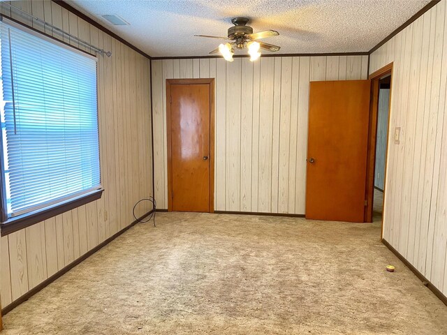
[[[374,168],[374,197],[372,220],[381,221],[383,213],[383,189],[385,188],[385,162],[388,139],[388,117],[390,107],[391,75],[379,79],[379,99],[377,106],[376,161]]]

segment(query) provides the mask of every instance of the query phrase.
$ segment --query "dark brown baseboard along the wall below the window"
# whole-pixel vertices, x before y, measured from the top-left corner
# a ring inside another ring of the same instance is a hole
[[[158,209],[157,209],[157,211],[158,211]],[[68,272],[69,270],[73,269],[73,267],[75,267],[76,265],[80,264],[80,262],[82,262],[83,260],[86,260],[87,258],[89,258],[91,255],[96,253],[96,251],[98,251],[99,249],[103,248],[103,246],[106,246],[107,244],[109,244],[111,241],[113,241],[114,239],[119,237],[119,235],[121,235],[123,232],[126,232],[126,230],[129,230],[129,228],[132,228],[134,225],[136,225],[138,222],[140,222],[142,219],[146,218],[147,216],[149,216],[153,212],[154,212],[154,209],[151,209],[146,214],[143,214],[142,216],[140,216],[140,218],[138,218],[138,220],[133,221],[126,228],[123,228],[122,230],[119,230],[119,232],[117,232],[116,234],[113,234],[111,237],[109,237],[105,241],[101,242],[101,244],[98,244],[97,246],[95,246],[93,249],[91,249],[90,251],[88,251],[87,253],[82,255],[77,260],[74,260],[73,262],[71,262],[69,265],[67,265],[63,269],[60,269],[59,271],[57,271],[52,276],[50,276],[47,279],[45,279],[45,281],[43,281],[42,283],[38,284],[35,288],[31,288],[31,290],[29,290],[27,293],[22,295],[22,297],[20,297],[20,298],[16,299],[15,301],[11,302],[8,306],[3,307],[1,309],[1,314],[5,315],[6,313],[12,311],[15,307],[17,307],[20,304],[22,304],[22,302],[27,301],[30,297],[32,297],[37,292],[39,292],[40,290],[45,288],[45,286],[49,285],[50,283],[55,281],[60,276],[66,274],[66,272]]]

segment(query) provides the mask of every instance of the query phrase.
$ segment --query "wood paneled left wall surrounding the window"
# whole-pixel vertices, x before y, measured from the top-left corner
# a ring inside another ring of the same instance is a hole
[[[152,195],[149,60],[52,1],[12,4],[101,49],[111,50],[112,57],[98,56],[103,197],[1,237],[3,307],[133,222],[133,204]],[[1,10],[31,24],[4,4]],[[52,34],[40,24],[33,26]],[[74,40],[64,40],[79,47]],[[151,208],[142,205],[138,215]]]

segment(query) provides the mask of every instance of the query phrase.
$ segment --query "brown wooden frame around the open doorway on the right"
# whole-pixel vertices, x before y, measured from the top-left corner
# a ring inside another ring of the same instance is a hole
[[[377,140],[377,119],[379,117],[379,81],[381,77],[390,75],[390,99],[388,101],[388,126],[386,135],[386,154],[385,154],[385,173],[383,175],[383,207],[386,199],[386,172],[388,170],[388,146],[390,144],[390,119],[391,119],[391,94],[393,91],[393,62],[383,66],[379,70],[370,74],[371,80],[371,99],[369,106],[369,135],[368,135],[368,154],[367,154],[367,175],[365,200],[365,222],[372,222],[372,211],[374,204],[374,174],[376,170],[376,140]],[[382,207],[382,208],[383,208]],[[383,238],[383,211],[381,222],[381,239]]]

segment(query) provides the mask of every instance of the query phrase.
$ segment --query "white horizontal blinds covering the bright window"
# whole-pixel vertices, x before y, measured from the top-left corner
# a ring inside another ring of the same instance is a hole
[[[101,188],[96,59],[0,23],[8,216]]]

